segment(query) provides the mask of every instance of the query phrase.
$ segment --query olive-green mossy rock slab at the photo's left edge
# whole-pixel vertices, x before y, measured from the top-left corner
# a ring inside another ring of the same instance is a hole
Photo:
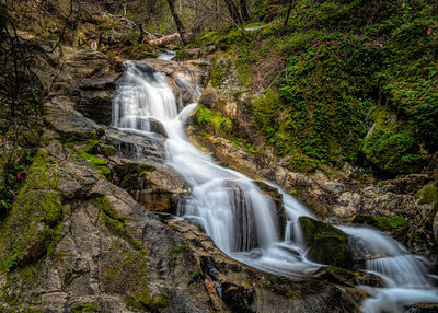
[[[37,262],[59,239],[62,198],[53,165],[47,152],[41,150],[36,154],[10,213],[0,225],[1,271]]]

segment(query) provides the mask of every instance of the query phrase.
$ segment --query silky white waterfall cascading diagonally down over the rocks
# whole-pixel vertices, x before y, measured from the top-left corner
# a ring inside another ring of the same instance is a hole
[[[191,188],[191,196],[178,204],[180,218],[196,222],[224,253],[261,270],[304,278],[321,268],[323,265],[308,259],[299,224],[300,217],[315,217],[280,190],[286,213],[286,223],[281,223],[274,200],[252,179],[216,164],[186,139],[184,124],[196,104],[177,112],[165,74],[141,62],[126,61],[125,66],[113,98],[112,125],[148,138],[157,136],[154,129],[162,125],[160,132],[168,137],[165,163]],[[364,312],[404,312],[415,303],[438,302],[426,259],[408,254],[379,231],[339,229],[353,239],[354,248],[371,256],[361,270],[380,277],[384,283],[383,288],[358,287],[370,294],[362,303]]]

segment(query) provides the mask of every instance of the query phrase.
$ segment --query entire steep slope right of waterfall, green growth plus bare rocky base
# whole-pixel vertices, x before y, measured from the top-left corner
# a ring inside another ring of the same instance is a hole
[[[286,3],[264,1],[245,35],[230,27],[199,38],[222,51],[210,55],[197,140],[326,220],[403,218],[407,235],[384,231],[436,254],[436,3],[291,8],[286,27]]]

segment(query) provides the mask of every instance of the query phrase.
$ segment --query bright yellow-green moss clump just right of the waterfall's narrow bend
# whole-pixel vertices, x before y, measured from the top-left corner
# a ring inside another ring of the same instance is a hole
[[[201,104],[197,107],[196,120],[203,129],[218,136],[228,137],[233,130],[230,118],[223,116],[220,112],[210,111]]]

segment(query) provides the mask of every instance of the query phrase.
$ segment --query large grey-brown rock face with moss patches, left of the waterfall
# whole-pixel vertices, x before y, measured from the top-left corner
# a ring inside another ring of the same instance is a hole
[[[42,147],[0,224],[1,311],[358,311],[365,292],[349,282],[258,271],[152,212],[174,212],[187,190],[160,162],[162,136],[147,142],[104,125],[119,68],[83,49],[44,54]],[[132,143],[141,160],[129,160]]]

